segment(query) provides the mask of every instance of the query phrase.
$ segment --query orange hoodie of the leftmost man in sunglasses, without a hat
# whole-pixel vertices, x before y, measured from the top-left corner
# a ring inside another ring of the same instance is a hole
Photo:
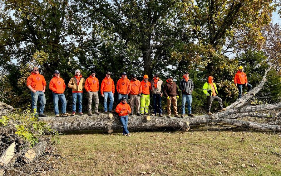
[[[43,86],[46,86],[46,81],[42,74],[31,72],[31,75],[26,80],[26,85],[31,85],[34,90],[42,91]]]

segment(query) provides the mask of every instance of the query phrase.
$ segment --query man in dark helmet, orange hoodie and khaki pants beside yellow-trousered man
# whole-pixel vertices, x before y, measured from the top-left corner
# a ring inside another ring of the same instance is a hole
[[[131,75],[131,92],[130,92],[130,106],[131,106],[131,114],[133,115],[134,112],[134,105],[136,103],[136,113],[138,116],[141,115],[140,113],[140,105],[141,105],[141,92],[142,92],[142,87],[141,87],[141,82],[137,80],[136,74]]]

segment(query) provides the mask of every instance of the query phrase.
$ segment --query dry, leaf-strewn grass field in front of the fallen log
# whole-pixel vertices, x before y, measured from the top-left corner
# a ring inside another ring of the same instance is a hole
[[[263,132],[101,131],[62,135],[49,175],[281,175],[281,135]],[[276,148],[277,147],[277,148]]]

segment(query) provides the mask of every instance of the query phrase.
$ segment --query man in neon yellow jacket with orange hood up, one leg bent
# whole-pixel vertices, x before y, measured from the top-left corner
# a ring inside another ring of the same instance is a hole
[[[220,111],[225,111],[226,108],[223,107],[222,99],[217,96],[217,86],[214,83],[214,78],[212,76],[209,76],[208,82],[206,82],[203,86],[203,92],[207,96],[207,105],[206,105],[206,111],[208,115],[212,115],[211,111],[211,105],[213,100],[219,102],[219,108]]]

